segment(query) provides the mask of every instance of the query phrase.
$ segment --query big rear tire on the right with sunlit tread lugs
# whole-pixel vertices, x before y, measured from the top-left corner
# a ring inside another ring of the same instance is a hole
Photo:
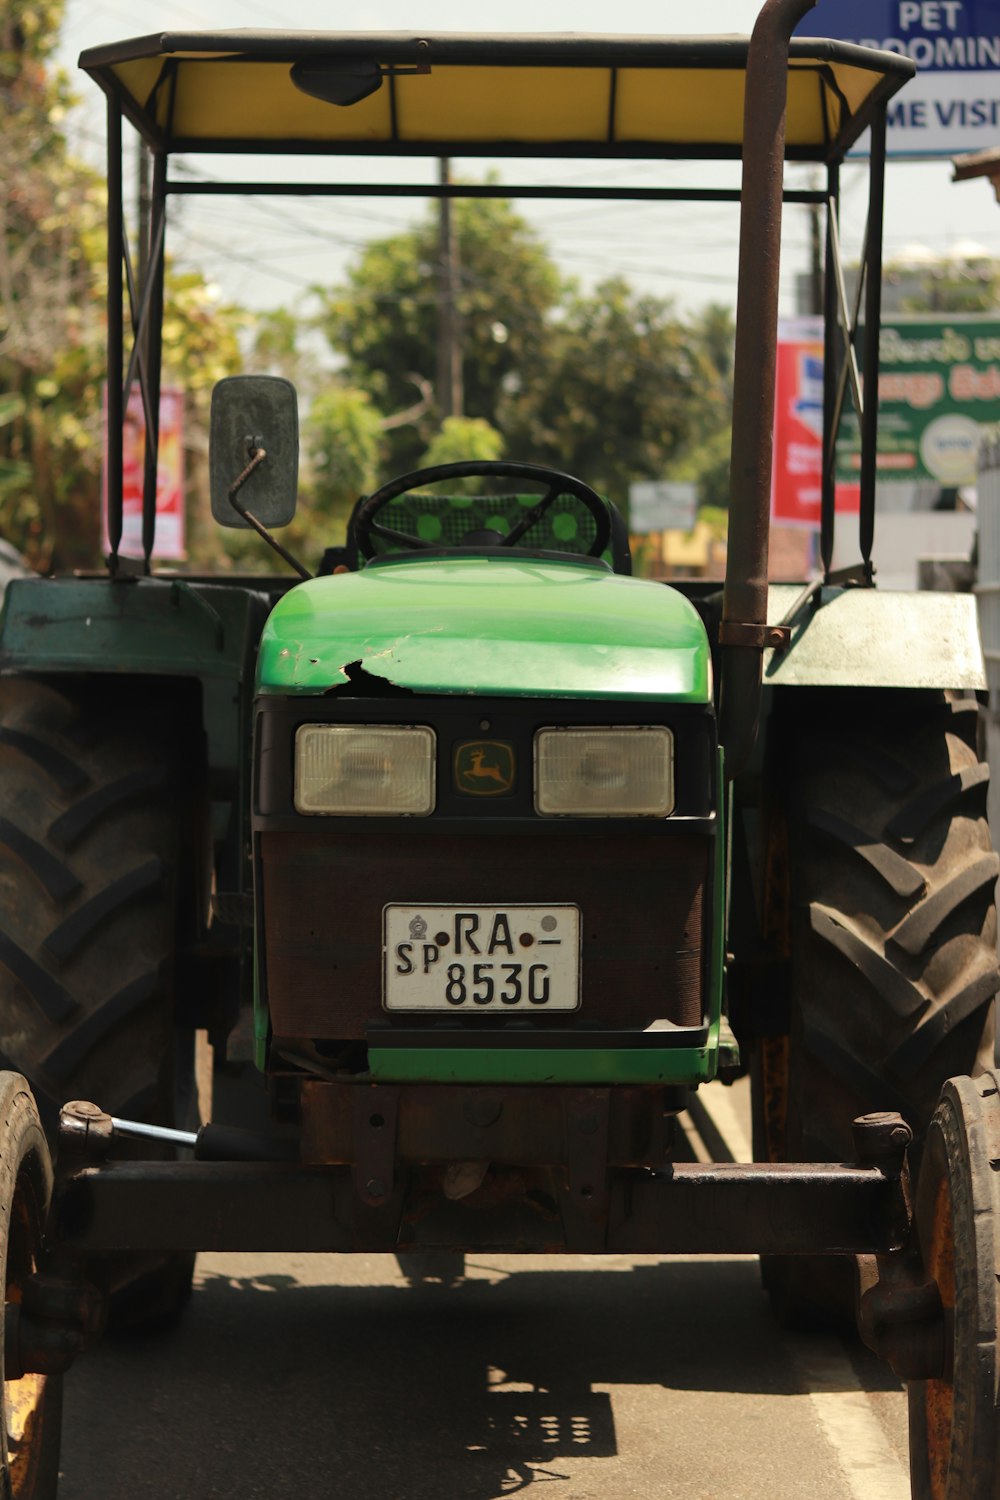
[[[994,1062],[1000,861],[978,706],[885,692],[778,706],[793,999],[790,1036],[759,1044],[762,1155],[849,1161],[852,1120],[898,1110],[916,1166],[943,1082]],[[765,1284],[784,1322],[853,1322],[850,1260],[771,1257]]]

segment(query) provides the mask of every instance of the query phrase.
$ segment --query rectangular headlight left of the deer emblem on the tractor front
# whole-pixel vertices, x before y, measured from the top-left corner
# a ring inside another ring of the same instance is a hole
[[[423,724],[301,724],[295,808],[426,818],[435,806],[435,732]]]

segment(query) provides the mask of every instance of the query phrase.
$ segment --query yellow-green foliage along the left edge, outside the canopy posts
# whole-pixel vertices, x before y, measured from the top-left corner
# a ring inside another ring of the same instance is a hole
[[[91,561],[97,542],[103,213],[60,129],[60,0],[0,14],[0,528],[40,567]]]

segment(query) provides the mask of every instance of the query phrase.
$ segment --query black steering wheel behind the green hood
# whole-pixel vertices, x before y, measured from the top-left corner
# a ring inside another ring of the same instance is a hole
[[[547,486],[544,495],[538,498],[531,510],[525,512],[517,525],[511,526],[504,536],[496,532],[495,546],[517,546],[525,532],[531,531],[559,495],[573,495],[576,500],[580,500],[594,518],[597,534],[585,554],[586,556],[600,558],[610,542],[612,519],[607,506],[597,490],[585,484],[583,480],[574,478],[571,474],[561,474],[559,470],[550,470],[544,464],[469,459],[466,464],[438,464],[436,468],[414,470],[411,474],[400,474],[399,478],[390,478],[387,484],[382,484],[373,495],[369,495],[354,516],[354,540],[361,556],[373,558],[376,555],[375,537],[381,537],[382,542],[394,542],[399,546],[411,548],[414,552],[435,548],[436,543],[424,542],[423,537],[415,537],[411,531],[397,531],[394,526],[385,526],[375,518],[391,500],[396,500],[397,495],[405,495],[406,490],[420,489],[423,484],[438,484],[447,478],[468,477],[532,478]]]

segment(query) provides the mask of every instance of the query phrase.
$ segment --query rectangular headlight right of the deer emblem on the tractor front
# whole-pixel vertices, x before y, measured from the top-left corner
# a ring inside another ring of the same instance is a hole
[[[540,729],[535,812],[549,818],[666,818],[673,812],[673,734]]]

